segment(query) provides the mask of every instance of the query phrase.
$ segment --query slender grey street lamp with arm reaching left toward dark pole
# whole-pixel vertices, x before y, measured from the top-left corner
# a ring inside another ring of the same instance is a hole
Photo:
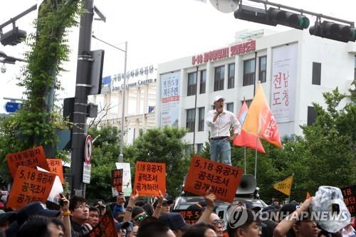
[[[124,155],[122,154],[122,152],[124,149],[124,128],[125,128],[125,90],[126,90],[127,41],[125,41],[125,51],[124,51],[123,49],[113,46],[111,43],[105,42],[105,41],[101,40],[100,38],[97,38],[94,35],[92,35],[92,37],[98,41],[101,41],[101,42],[107,44],[108,46],[111,46],[112,48],[116,48],[119,51],[122,51],[125,53],[124,89],[122,92],[121,137],[120,137],[120,154],[119,154],[119,163],[122,163],[124,160]]]

